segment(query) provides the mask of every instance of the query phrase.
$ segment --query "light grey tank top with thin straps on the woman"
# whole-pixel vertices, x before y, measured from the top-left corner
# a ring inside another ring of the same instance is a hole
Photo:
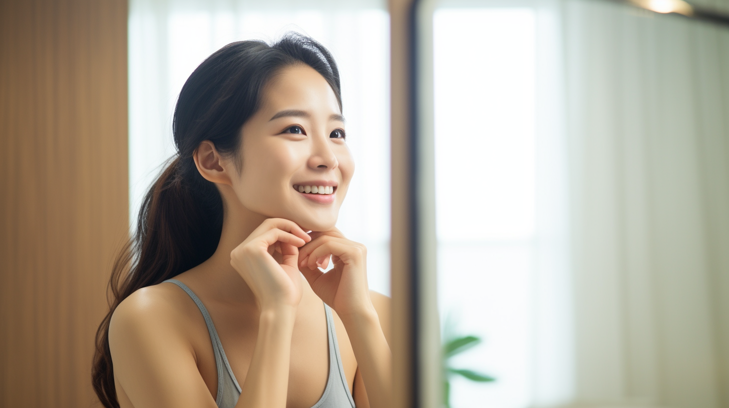
[[[238,397],[241,396],[241,385],[238,385],[238,380],[235,380],[233,370],[230,369],[230,364],[228,364],[227,357],[225,357],[223,345],[218,337],[218,332],[215,330],[210,313],[208,313],[203,302],[200,301],[187,285],[176,279],[168,279],[165,282],[174,283],[186,291],[192,297],[192,300],[195,301],[195,304],[198,305],[200,312],[203,313],[205,323],[208,325],[210,340],[213,343],[215,365],[218,369],[218,391],[215,404],[219,408],[235,407],[235,403],[238,402]],[[332,310],[330,310],[326,303],[324,303],[324,313],[327,315],[327,337],[329,337],[329,378],[327,379],[327,387],[324,388],[324,395],[311,408],[354,408],[354,399],[352,399],[352,394],[349,392],[347,379],[342,366],[342,358],[339,355],[337,332],[334,328]]]

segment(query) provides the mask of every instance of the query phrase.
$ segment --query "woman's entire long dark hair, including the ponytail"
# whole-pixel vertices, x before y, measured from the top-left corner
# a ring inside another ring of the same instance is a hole
[[[240,130],[260,108],[263,87],[282,68],[300,64],[324,76],[341,109],[339,71],[332,55],[319,42],[293,33],[274,44],[227,44],[204,60],[182,87],[173,119],[177,153],[144,196],[136,232],[112,267],[109,313],[96,331],[91,377],[104,407],[119,407],[109,350],[114,310],[137,289],[201,264],[219,243],[222,198],[214,184],[200,175],[192,154],[200,142],[212,141],[220,154],[233,158],[240,171]]]

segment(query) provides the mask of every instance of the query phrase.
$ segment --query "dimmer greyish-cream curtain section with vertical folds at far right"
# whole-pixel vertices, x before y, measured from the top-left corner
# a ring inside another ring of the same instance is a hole
[[[727,407],[729,27],[562,7],[573,398]]]

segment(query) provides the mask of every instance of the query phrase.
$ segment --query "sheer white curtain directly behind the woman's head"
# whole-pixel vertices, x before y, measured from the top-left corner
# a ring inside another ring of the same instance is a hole
[[[368,249],[370,288],[389,294],[389,16],[383,0],[131,0],[130,219],[174,154],[171,119],[184,81],[225,44],[298,31],[324,44],[342,79],[356,171],[338,227]]]

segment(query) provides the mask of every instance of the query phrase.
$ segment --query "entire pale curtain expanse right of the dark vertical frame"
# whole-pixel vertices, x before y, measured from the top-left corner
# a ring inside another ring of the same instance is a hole
[[[497,378],[453,407],[727,407],[729,28],[439,4],[440,309],[485,340],[454,364]]]

